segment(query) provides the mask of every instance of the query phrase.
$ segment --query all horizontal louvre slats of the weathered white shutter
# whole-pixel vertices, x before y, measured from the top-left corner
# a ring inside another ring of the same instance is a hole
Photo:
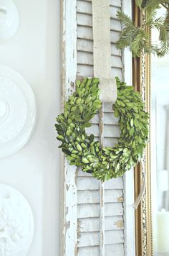
[[[121,6],[121,1],[111,1],[112,5]],[[115,42],[120,37],[121,25],[115,19],[117,7],[110,8],[110,43],[111,43],[111,70],[112,77],[122,78],[122,52],[117,50]],[[93,69],[93,35],[92,35],[92,3],[91,1],[77,1],[77,76],[94,76]],[[89,133],[95,135],[95,140],[99,140],[100,117],[96,115],[92,120],[92,127]],[[118,119],[115,118],[112,105],[104,104],[103,115],[104,146],[114,146],[117,137],[120,137],[120,130],[117,126]],[[115,236],[114,242],[118,242],[115,247],[107,247],[105,241],[105,255],[124,255],[124,223],[123,223],[123,180],[122,178],[112,179],[104,185],[104,213],[100,211],[100,182],[88,173],[78,172],[77,178],[77,202],[78,202],[78,256],[90,253],[92,256],[102,255],[100,250],[100,214],[105,215],[105,239],[107,234]],[[103,188],[101,187],[101,191]],[[102,210],[103,208],[101,208]],[[111,233],[116,231],[114,233]],[[117,239],[117,241],[115,241]],[[96,247],[96,245],[99,245]],[[83,247],[84,246],[84,247]]]

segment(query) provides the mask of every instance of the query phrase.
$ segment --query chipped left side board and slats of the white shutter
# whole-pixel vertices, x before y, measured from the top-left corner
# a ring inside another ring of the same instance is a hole
[[[120,0],[110,0],[112,76],[124,78],[122,52],[115,42],[120,36],[121,24],[116,12],[122,8]],[[92,41],[92,1],[63,1],[63,98],[74,90],[76,78],[94,76]],[[104,65],[104,63],[103,63]],[[88,132],[99,140],[99,116],[92,119]],[[104,145],[112,147],[120,136],[112,106],[104,104]],[[105,230],[100,226],[100,181],[92,175],[69,166],[64,159],[62,170],[62,244],[61,256],[123,256],[124,232],[124,180],[116,178],[105,182],[103,210]],[[105,253],[100,251],[104,233]],[[132,234],[131,234],[132,235]],[[131,254],[130,254],[131,255]],[[134,254],[133,254],[134,255]]]

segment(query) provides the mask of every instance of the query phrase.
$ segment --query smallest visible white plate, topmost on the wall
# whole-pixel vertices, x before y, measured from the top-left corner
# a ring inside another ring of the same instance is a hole
[[[11,39],[19,27],[19,14],[12,0],[0,0],[0,42]]]

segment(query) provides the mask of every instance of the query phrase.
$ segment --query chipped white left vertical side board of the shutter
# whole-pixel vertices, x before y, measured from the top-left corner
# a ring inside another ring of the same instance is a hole
[[[74,90],[77,76],[76,4],[76,0],[62,1],[62,99],[67,99],[71,90]],[[64,205],[61,212],[60,255],[69,256],[77,254],[77,171],[74,166],[69,166],[65,158],[63,165],[61,200]]]

